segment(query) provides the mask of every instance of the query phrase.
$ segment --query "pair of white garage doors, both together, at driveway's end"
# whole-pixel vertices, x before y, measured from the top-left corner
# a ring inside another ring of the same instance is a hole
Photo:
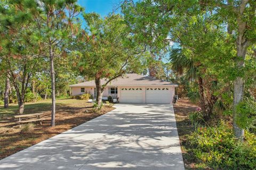
[[[120,103],[172,103],[174,87],[120,88]]]

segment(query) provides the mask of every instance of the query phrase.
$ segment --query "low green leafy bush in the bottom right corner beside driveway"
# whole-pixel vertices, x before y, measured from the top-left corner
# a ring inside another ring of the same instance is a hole
[[[201,127],[187,141],[188,152],[199,164],[213,169],[253,169],[256,167],[256,136],[246,132],[245,142],[234,138],[231,127],[222,122]]]

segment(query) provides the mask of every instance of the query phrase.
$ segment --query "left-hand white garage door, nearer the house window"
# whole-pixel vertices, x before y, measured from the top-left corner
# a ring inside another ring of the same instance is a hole
[[[121,88],[121,103],[143,103],[142,88]]]

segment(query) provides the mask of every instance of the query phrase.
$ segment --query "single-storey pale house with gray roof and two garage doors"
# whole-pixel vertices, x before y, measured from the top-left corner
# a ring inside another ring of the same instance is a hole
[[[103,84],[105,80],[101,80]],[[72,96],[89,93],[96,97],[95,82],[87,81],[73,84],[71,87]],[[139,74],[126,74],[123,78],[111,81],[105,87],[103,97],[111,96],[118,98],[120,103],[172,103],[175,94],[175,87],[168,81],[151,78]]]

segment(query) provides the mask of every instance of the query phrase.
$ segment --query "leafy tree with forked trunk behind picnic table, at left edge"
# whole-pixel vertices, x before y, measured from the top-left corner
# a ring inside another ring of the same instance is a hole
[[[26,4],[23,1],[6,2],[8,5],[0,4],[0,70],[8,74],[17,94],[19,113],[23,114],[31,74],[40,69],[37,65],[43,61],[38,57],[38,46],[32,38],[36,23],[28,10],[20,10],[27,9]]]

